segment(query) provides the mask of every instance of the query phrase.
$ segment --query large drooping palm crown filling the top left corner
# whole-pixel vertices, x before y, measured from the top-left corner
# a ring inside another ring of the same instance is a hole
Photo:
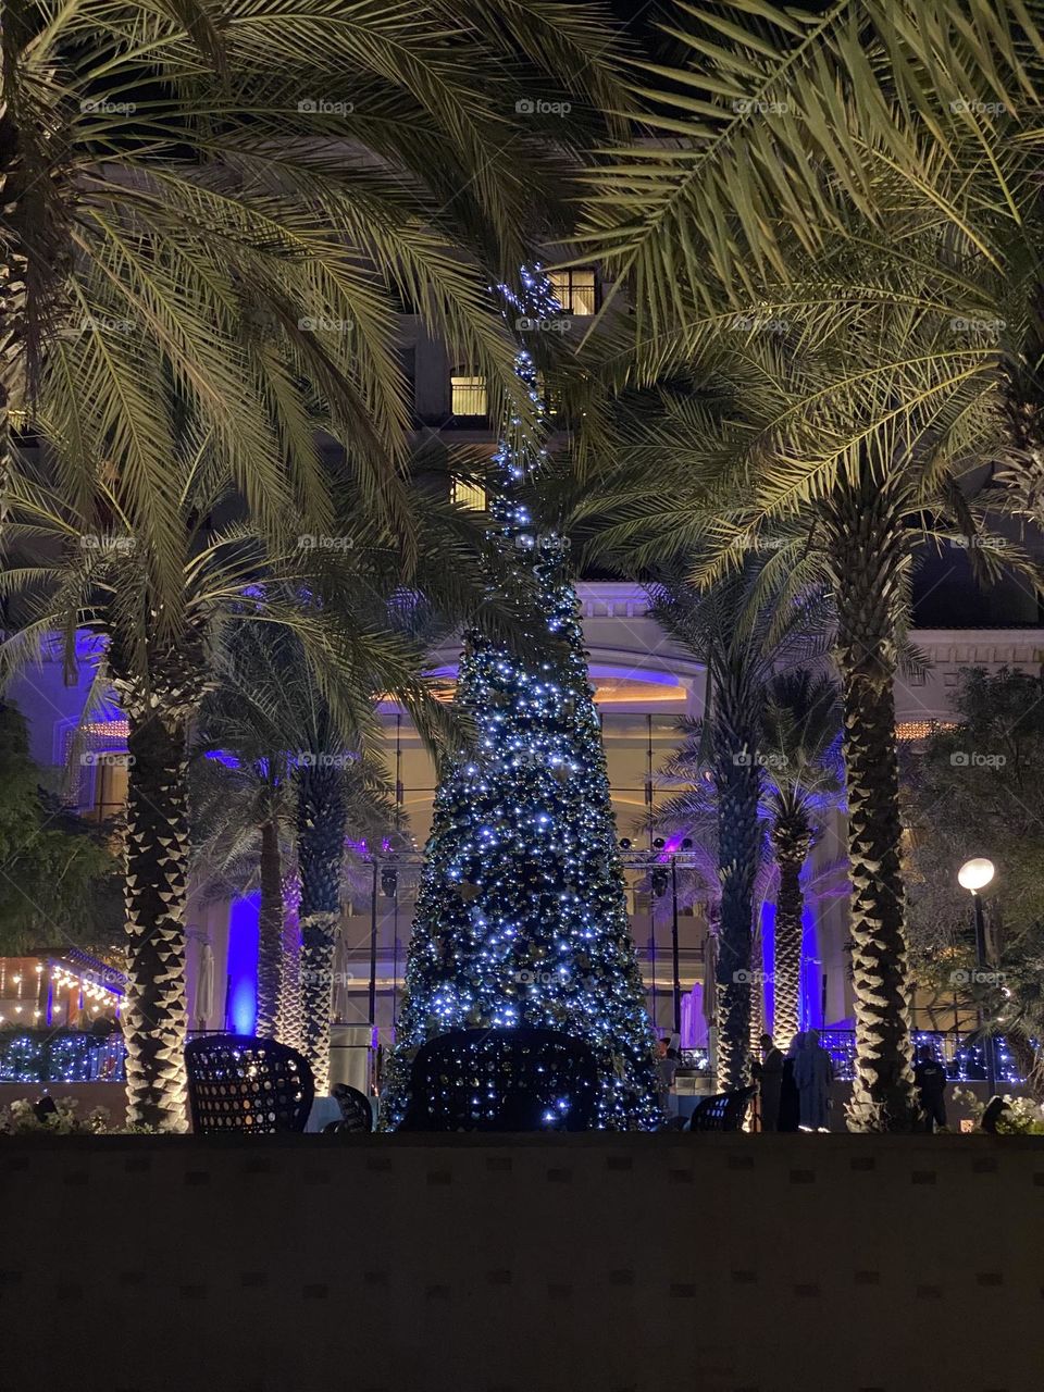
[[[288,509],[322,522],[329,504],[312,394],[352,443],[370,511],[405,525],[398,316],[475,363],[494,404],[512,395],[486,287],[516,263],[532,209],[555,206],[582,113],[617,104],[601,21],[533,0],[351,17],[327,0],[11,0],[0,475],[26,430],[81,493],[113,461],[175,592],[178,430],[156,397],[175,386],[274,525]],[[585,97],[572,122],[505,117],[507,89],[536,82]]]

